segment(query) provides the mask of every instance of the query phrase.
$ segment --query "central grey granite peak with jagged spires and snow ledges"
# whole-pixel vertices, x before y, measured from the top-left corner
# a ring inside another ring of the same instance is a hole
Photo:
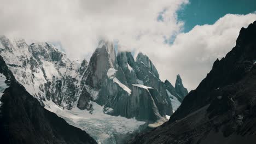
[[[182,99],[175,98],[179,97],[175,89],[167,89],[170,82],[166,85],[159,79],[148,56],[139,53],[135,61],[131,52],[115,55],[113,44],[101,41],[83,78],[88,91],[98,92],[95,101],[104,112],[149,122],[172,115]]]

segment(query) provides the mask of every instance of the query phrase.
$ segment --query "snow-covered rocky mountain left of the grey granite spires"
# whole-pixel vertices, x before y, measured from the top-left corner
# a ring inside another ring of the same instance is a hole
[[[52,100],[71,109],[79,97],[79,79],[87,62],[70,61],[65,53],[49,43],[0,38],[0,53],[9,69],[27,91],[42,104]]]

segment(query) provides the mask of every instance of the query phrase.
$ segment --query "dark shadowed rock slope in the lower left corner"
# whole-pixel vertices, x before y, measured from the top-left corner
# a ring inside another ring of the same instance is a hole
[[[0,99],[1,143],[96,143],[85,131],[44,109],[15,80],[1,56],[0,74],[8,85]]]

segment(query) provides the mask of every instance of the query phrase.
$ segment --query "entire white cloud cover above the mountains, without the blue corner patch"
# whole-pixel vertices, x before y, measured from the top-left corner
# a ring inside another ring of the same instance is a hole
[[[213,62],[235,46],[241,27],[256,20],[254,11],[227,12],[217,20],[214,17],[214,22],[198,22],[188,28],[189,21],[179,17],[192,2],[0,0],[0,34],[27,41],[61,41],[71,59],[89,58],[98,40],[118,40],[125,50],[146,53],[163,81],[174,84],[180,74],[184,86],[191,90]]]

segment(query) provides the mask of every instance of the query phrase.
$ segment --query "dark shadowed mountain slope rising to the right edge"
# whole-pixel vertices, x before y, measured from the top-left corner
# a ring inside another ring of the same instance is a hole
[[[129,143],[255,143],[256,21],[170,120]]]

